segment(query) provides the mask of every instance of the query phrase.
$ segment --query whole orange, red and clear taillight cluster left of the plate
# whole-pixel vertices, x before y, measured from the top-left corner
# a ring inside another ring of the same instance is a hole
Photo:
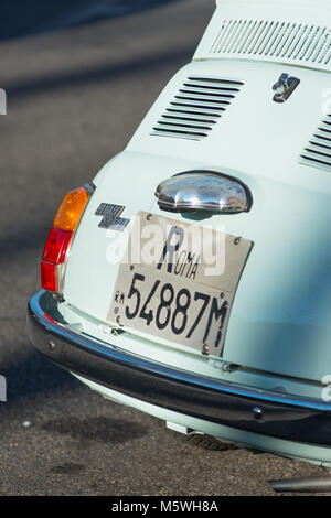
[[[41,262],[41,283],[44,290],[61,293],[68,249],[94,191],[90,185],[67,193],[56,213]]]

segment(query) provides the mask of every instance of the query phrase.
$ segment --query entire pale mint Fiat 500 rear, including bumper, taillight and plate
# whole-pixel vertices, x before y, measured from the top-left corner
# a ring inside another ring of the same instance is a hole
[[[65,196],[36,349],[174,430],[330,466],[330,72],[329,1],[220,1],[125,151]]]

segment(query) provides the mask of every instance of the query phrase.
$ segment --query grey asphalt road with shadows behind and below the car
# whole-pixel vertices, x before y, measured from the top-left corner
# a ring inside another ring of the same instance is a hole
[[[273,495],[318,466],[188,440],[39,357],[25,307],[63,193],[120,151],[190,61],[212,0],[1,42],[0,495]]]

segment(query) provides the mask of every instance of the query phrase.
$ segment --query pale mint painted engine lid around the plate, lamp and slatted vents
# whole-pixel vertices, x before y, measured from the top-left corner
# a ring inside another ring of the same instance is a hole
[[[67,266],[64,295],[70,304],[106,322],[118,266],[107,260],[113,245],[95,216],[100,203],[124,205],[122,217],[128,218],[139,211],[159,214],[159,182],[179,172],[212,169],[246,183],[254,197],[247,214],[196,222],[224,225],[226,233],[255,244],[235,298],[224,359],[316,381],[331,374],[331,174],[299,163],[322,118],[330,79],[325,73],[300,69],[296,94],[277,105],[271,86],[281,72],[284,65],[196,62],[174,76],[127,150],[96,179]],[[191,75],[237,79],[244,86],[205,140],[151,136],[164,106]],[[121,245],[125,239],[119,236]]]

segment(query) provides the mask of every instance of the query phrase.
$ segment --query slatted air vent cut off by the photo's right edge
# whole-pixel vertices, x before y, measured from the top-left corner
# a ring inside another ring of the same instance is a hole
[[[325,116],[313,133],[300,155],[300,163],[331,172],[331,115]]]

